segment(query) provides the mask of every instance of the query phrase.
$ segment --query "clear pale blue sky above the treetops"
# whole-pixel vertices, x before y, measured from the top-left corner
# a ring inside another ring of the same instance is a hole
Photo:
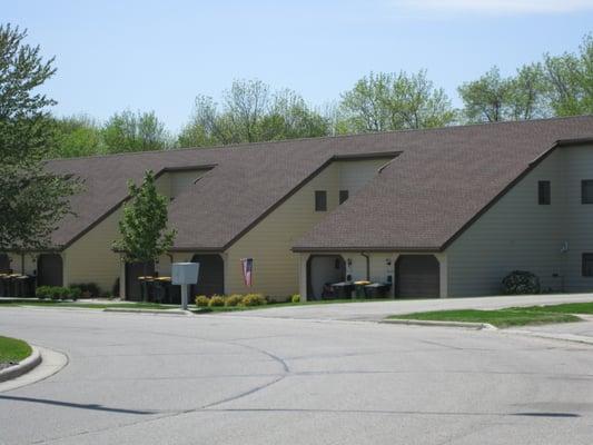
[[[155,110],[171,131],[194,98],[234,79],[291,88],[323,106],[369,71],[428,70],[456,87],[497,65],[577,49],[593,0],[0,0],[56,56],[58,115]]]

